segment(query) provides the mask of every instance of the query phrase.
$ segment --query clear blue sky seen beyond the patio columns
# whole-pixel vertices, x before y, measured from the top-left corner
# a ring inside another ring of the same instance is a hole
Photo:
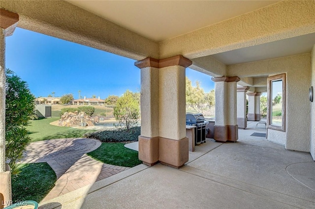
[[[136,60],[103,52],[33,31],[16,28],[6,37],[5,67],[27,81],[35,97],[72,93],[81,96],[122,95],[127,89],[140,90],[140,69]],[[201,82],[205,92],[214,89],[211,77],[187,69],[194,84]]]

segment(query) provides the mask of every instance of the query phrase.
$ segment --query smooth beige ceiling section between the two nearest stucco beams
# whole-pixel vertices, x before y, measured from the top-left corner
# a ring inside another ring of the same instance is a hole
[[[161,42],[279,0],[67,0],[153,41]]]

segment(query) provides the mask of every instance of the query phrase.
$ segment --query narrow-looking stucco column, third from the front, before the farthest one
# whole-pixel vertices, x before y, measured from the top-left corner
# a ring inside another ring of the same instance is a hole
[[[246,129],[247,127],[246,92],[249,89],[249,86],[237,87],[237,125],[240,129]]]

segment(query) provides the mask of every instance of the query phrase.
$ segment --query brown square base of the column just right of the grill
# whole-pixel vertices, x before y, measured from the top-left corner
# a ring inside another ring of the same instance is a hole
[[[238,125],[217,126],[215,125],[214,140],[218,142],[236,142],[238,139]]]

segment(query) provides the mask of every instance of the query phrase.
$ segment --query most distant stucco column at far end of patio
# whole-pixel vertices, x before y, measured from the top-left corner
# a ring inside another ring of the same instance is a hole
[[[248,95],[248,121],[260,120],[260,95],[261,93],[247,93]]]

